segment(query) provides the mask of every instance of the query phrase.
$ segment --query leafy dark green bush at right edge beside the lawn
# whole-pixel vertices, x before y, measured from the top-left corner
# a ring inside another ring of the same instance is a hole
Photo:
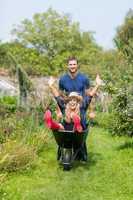
[[[110,129],[113,134],[133,136],[133,88],[123,87],[113,98]]]

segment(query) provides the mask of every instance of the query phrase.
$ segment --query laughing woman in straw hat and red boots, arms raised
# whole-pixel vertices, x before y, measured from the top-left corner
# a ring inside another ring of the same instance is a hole
[[[84,129],[87,128],[85,117],[86,110],[91,102],[92,97],[95,95],[98,87],[101,84],[101,79],[99,75],[97,75],[96,77],[96,86],[91,91],[89,91],[84,98],[77,92],[71,92],[68,98],[62,97],[56,89],[54,82],[54,79],[51,77],[48,85],[62,113],[61,114],[59,112],[60,121],[62,121],[62,123],[58,123],[52,119],[52,114],[50,110],[47,110],[45,112],[44,122],[49,128],[53,130],[66,129],[66,127],[68,127],[68,124],[73,123],[73,130],[81,133]]]

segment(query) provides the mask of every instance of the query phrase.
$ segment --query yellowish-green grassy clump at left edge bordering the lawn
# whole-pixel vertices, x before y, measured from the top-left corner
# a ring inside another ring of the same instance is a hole
[[[35,161],[34,148],[16,141],[4,143],[0,152],[0,171],[13,172],[28,169]]]

